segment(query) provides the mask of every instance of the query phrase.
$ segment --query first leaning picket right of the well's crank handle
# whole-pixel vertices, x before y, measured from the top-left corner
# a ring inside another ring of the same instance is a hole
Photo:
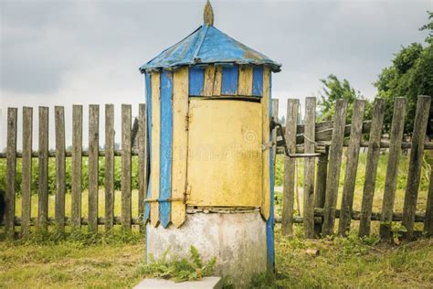
[[[329,150],[329,167],[326,178],[325,206],[323,211],[322,234],[324,236],[333,234],[335,222],[335,209],[338,197],[338,185],[340,169],[342,165],[344,126],[346,123],[347,102],[338,100],[335,104],[335,115],[333,119],[333,136]]]

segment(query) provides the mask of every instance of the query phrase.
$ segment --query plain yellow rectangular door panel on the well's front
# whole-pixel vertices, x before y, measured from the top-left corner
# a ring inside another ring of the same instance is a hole
[[[261,206],[261,113],[258,102],[190,100],[188,205]]]

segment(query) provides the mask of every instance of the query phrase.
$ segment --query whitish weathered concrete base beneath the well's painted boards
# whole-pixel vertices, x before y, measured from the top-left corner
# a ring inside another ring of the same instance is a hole
[[[259,211],[187,214],[179,229],[147,224],[146,238],[148,257],[189,257],[193,245],[204,261],[216,256],[216,275],[240,286],[267,270],[266,222]]]

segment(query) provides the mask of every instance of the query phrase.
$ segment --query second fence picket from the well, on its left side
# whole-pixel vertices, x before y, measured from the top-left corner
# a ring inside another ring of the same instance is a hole
[[[131,104],[121,104],[121,227],[131,230]]]

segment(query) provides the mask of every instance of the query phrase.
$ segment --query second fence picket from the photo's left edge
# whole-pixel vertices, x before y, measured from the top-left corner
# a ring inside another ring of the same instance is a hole
[[[32,137],[33,108],[23,107],[23,159],[21,186],[21,235],[26,237],[30,230],[32,196]]]

